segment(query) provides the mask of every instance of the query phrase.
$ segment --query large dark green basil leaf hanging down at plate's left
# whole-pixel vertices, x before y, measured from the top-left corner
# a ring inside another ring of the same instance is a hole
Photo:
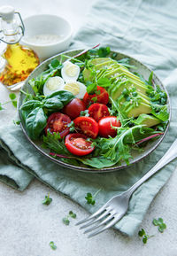
[[[41,107],[36,107],[27,115],[27,133],[32,139],[37,139],[47,124],[47,117]]]

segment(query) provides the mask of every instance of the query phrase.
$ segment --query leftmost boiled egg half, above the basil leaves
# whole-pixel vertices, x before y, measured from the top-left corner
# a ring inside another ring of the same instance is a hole
[[[43,86],[43,95],[49,96],[50,94],[63,89],[65,81],[60,76],[50,77]]]

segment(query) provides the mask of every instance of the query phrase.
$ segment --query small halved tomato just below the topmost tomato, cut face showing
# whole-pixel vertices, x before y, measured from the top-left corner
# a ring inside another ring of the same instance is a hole
[[[95,103],[89,106],[89,116],[96,121],[108,115],[110,115],[110,112],[106,105]]]

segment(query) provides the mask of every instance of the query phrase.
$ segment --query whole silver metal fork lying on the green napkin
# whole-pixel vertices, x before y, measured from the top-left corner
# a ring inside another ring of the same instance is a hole
[[[150,171],[146,173],[146,175],[142,176],[138,182],[135,182],[135,184],[125,192],[110,199],[106,204],[104,204],[104,206],[96,211],[96,213],[93,213],[88,218],[79,221],[76,223],[76,225],[87,222],[86,224],[82,225],[80,229],[85,229],[91,226],[91,228],[84,231],[84,234],[89,233],[89,237],[94,237],[104,230],[111,228],[127,213],[129,199],[131,198],[134,191],[152,175],[156,174],[159,169],[165,167],[166,164],[171,162],[176,157],[177,139],[173,142],[169,150],[166,151],[165,155],[158,161],[158,163],[152,167]]]

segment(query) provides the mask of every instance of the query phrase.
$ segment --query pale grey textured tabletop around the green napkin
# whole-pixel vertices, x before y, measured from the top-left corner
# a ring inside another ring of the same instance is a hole
[[[1,4],[12,4],[24,15],[42,13],[63,13],[76,31],[93,2],[86,0],[55,0],[50,10],[46,9],[46,0],[37,3],[7,0]],[[57,8],[55,7],[57,6]],[[9,91],[0,85],[0,102],[8,99]],[[15,109],[11,104],[0,112],[0,125],[15,120]],[[125,237],[113,229],[97,237],[87,238],[75,223],[88,213],[63,195],[50,190],[35,180],[27,190],[19,192],[0,182],[0,256],[177,256],[177,172],[175,171],[164,188],[152,202],[140,229],[154,235],[147,244],[136,233],[134,237]],[[50,191],[53,199],[50,206],[43,206],[42,199]],[[72,210],[77,214],[65,226],[62,218]],[[164,233],[153,226],[154,218],[162,217],[167,225]],[[50,241],[57,250],[50,249]]]

